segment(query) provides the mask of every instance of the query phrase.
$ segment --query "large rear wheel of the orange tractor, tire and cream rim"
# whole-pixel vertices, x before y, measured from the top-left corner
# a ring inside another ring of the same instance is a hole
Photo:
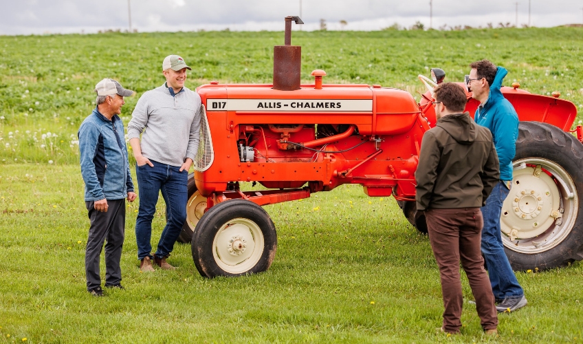
[[[583,259],[583,145],[558,127],[520,122],[514,179],[500,215],[514,270]]]

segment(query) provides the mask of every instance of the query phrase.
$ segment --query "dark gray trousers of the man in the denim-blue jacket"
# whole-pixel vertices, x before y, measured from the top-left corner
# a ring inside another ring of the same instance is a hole
[[[93,201],[85,201],[89,212],[91,226],[85,250],[85,275],[87,290],[101,286],[99,276],[99,257],[105,244],[105,285],[115,286],[122,281],[122,246],[124,244],[124,229],[126,222],[126,202],[122,200],[107,200],[107,212],[96,211]]]

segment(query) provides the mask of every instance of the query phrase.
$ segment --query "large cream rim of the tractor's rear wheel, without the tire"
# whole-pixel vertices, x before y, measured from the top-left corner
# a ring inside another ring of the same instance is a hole
[[[510,250],[534,254],[551,250],[571,233],[579,197],[560,165],[541,158],[514,163],[512,189],[502,206],[502,241]]]

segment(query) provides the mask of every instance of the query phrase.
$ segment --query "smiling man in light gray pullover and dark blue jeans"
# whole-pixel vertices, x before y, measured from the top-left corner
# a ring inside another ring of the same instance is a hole
[[[184,87],[186,69],[190,67],[180,56],[166,56],[162,63],[166,83],[140,97],[128,124],[140,194],[135,238],[143,272],[154,271],[152,262],[174,270],[166,258],[186,220],[188,169],[199,145],[201,116],[200,96]],[[152,219],[159,191],[166,202],[166,226],[152,255]]]

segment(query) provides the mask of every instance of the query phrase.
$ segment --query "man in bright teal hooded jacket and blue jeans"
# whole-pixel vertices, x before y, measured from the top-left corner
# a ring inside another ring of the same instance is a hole
[[[492,132],[500,161],[500,180],[482,207],[484,228],[481,250],[492,283],[496,309],[498,312],[512,312],[525,306],[527,299],[504,252],[500,212],[512,186],[512,158],[516,153],[518,115],[500,92],[507,70],[487,60],[474,62],[470,67],[472,71],[467,86],[472,91],[472,98],[480,102],[474,120]]]

